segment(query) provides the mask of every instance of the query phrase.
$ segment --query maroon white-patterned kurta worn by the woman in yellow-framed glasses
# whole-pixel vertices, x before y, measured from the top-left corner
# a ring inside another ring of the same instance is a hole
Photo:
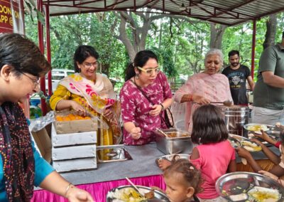
[[[173,96],[168,80],[161,72],[158,73],[153,84],[142,87],[142,90],[155,105]],[[166,126],[165,124],[161,124],[160,116],[152,117],[149,115],[149,112],[152,110],[152,104],[140,90],[137,89],[136,85],[134,85],[131,80],[126,81],[121,88],[120,100],[123,122],[133,122],[136,127],[141,128],[140,139],[132,139],[131,134],[124,129],[124,144],[142,145],[155,141],[153,130],[166,128]]]

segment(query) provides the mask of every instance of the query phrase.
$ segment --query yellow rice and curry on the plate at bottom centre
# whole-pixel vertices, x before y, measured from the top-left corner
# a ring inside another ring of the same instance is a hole
[[[108,194],[109,197],[114,198],[114,202],[119,201],[129,201],[129,202],[143,202],[147,199],[154,198],[154,191],[149,191],[145,193],[144,196],[141,196],[137,191],[132,187],[126,187],[118,189],[116,188],[114,192]]]

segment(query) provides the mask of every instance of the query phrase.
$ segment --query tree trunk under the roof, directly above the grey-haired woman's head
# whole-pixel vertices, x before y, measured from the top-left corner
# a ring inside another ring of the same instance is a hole
[[[210,48],[222,49],[222,38],[226,27],[225,25],[210,23]]]

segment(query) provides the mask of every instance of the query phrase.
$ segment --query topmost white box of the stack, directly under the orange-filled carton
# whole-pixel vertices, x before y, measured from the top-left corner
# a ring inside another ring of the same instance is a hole
[[[97,132],[76,132],[68,134],[57,134],[54,124],[51,129],[51,139],[53,147],[65,147],[80,144],[96,144]]]

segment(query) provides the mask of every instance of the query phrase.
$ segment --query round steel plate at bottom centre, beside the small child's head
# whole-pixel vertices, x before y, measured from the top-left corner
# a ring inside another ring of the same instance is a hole
[[[142,192],[142,193],[148,193],[149,191],[151,191],[151,188],[148,187],[148,186],[140,186],[140,185],[136,185],[139,190]],[[107,193],[107,202],[113,202],[113,201],[117,201],[119,202],[120,200],[117,200],[116,198],[112,198],[111,196],[111,193],[114,193],[114,191],[116,189],[118,190],[121,190],[121,189],[124,189],[124,188],[129,188],[129,187],[132,187],[131,185],[126,185],[126,186],[119,186],[117,188],[113,188],[111,189],[108,193]],[[165,196],[164,193],[160,192],[160,191],[157,191],[155,190],[154,191],[154,198],[153,199],[149,199],[148,200],[149,202],[150,201],[160,201],[160,202],[170,202],[168,197]]]

